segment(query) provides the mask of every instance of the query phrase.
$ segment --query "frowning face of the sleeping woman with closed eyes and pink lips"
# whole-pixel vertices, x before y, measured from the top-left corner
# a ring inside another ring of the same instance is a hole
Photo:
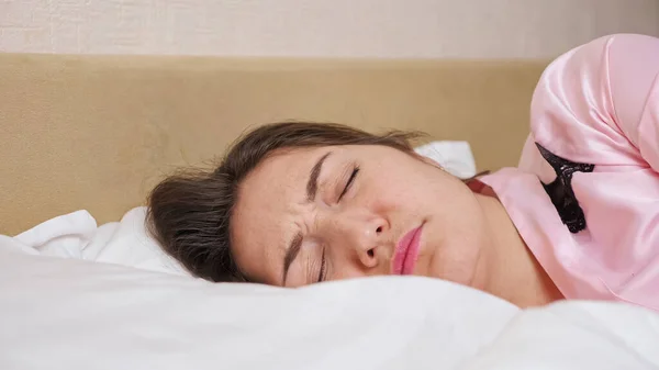
[[[473,287],[488,240],[462,181],[387,146],[280,150],[245,178],[232,218],[243,273],[284,287],[376,274]]]

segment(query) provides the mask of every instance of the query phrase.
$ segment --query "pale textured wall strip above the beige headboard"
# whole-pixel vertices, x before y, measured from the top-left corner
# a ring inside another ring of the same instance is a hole
[[[550,57],[659,36],[657,0],[0,0],[0,51]]]

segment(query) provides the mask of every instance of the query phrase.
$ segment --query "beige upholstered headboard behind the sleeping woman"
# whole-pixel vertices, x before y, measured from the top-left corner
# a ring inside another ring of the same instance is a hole
[[[0,54],[0,234],[116,221],[175,166],[280,120],[422,130],[514,166],[546,64]]]

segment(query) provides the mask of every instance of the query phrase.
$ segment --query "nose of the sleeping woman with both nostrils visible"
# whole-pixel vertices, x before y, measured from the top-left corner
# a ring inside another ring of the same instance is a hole
[[[383,235],[387,220],[368,212],[339,212],[328,220],[330,239],[333,248],[356,258],[364,268],[372,269],[384,257]]]

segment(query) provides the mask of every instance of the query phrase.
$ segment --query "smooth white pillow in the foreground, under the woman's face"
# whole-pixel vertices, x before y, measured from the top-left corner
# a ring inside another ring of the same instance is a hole
[[[34,256],[0,236],[0,369],[434,369],[517,309],[434,279],[281,289]]]

